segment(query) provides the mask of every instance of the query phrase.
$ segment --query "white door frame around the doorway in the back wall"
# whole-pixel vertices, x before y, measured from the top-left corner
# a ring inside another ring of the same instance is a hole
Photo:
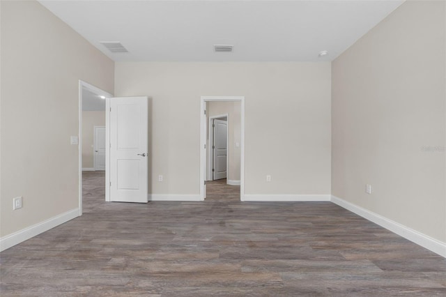
[[[200,198],[206,183],[206,102],[240,102],[240,201],[245,201],[245,96],[201,96],[200,104]]]

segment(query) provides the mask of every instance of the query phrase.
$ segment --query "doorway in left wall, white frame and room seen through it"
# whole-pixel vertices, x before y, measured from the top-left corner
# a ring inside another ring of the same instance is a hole
[[[111,97],[79,80],[79,215],[83,212],[84,181],[87,188],[100,188],[96,193],[101,198],[105,192],[105,108]]]

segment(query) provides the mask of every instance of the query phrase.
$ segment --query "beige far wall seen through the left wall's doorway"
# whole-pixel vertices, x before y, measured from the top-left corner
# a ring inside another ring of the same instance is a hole
[[[82,112],[82,168],[94,168],[95,126],[105,126],[105,111]]]

